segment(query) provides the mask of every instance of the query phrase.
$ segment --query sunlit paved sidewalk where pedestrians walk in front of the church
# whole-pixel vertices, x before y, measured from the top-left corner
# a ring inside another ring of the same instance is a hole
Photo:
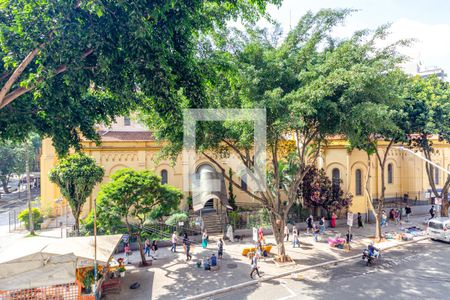
[[[411,217],[411,221],[405,224],[405,227],[418,226],[423,228],[425,216]],[[401,226],[389,224],[383,228],[383,232],[401,230]],[[330,248],[327,244],[328,236],[335,236],[341,233],[344,236],[347,227],[339,227],[333,230],[327,230],[317,243],[313,241],[312,235],[304,233],[300,236],[301,248],[292,248],[291,241],[285,243],[286,252],[291,256],[295,265],[278,267],[273,261],[267,259],[259,263],[263,278],[278,276],[280,274],[295,271],[300,268],[311,267],[321,263],[351,258],[360,255],[362,249],[367,247],[370,240],[368,236],[373,236],[374,224],[368,224],[365,228],[353,229],[352,250],[345,251],[337,248]],[[292,238],[292,235],[291,235]],[[266,242],[275,244],[272,236],[266,236]],[[382,248],[401,244],[401,241],[383,242]],[[140,262],[138,251],[133,253],[130,258],[132,265],[127,266],[126,280],[122,286],[120,295],[111,295],[107,299],[185,299],[202,293],[222,289],[251,281],[250,261],[247,257],[241,255],[242,249],[253,246],[253,242],[245,239],[241,243],[231,243],[225,241],[224,259],[219,261],[219,271],[204,271],[196,267],[196,262],[204,257],[210,257],[212,253],[217,255],[216,243],[211,241],[207,249],[202,249],[199,245],[194,246],[192,261],[186,262],[184,253],[171,253],[168,248],[162,248],[158,251],[157,260],[153,260],[153,265],[147,268],[139,268]],[[182,251],[181,246],[178,251]],[[276,253],[274,246],[272,252]],[[123,254],[117,255],[123,257]],[[133,282],[139,282],[141,288],[130,290],[128,286]]]

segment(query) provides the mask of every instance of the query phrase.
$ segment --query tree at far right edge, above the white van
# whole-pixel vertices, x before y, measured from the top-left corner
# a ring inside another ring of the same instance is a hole
[[[436,153],[433,140],[450,142],[449,83],[436,76],[414,77],[405,88],[405,99],[411,132],[409,146],[422,151],[425,158],[433,161]],[[442,216],[448,217],[450,176],[444,174],[445,181],[439,191],[436,177],[440,177],[441,171],[429,163],[425,164],[425,170],[433,195],[442,198]]]

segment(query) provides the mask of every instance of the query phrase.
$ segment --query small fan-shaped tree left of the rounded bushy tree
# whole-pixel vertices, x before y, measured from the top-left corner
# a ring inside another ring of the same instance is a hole
[[[97,183],[103,179],[104,170],[86,154],[75,153],[62,158],[50,170],[50,181],[55,183],[69,202],[75,218],[75,231],[80,230],[80,214],[86,199]]]

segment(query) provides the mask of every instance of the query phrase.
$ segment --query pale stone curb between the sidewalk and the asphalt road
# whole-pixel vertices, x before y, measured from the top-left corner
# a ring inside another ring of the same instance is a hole
[[[414,244],[414,243],[417,243],[417,242],[420,242],[420,241],[423,241],[423,240],[426,240],[426,239],[428,239],[427,236],[421,236],[421,237],[418,237],[415,240],[403,242],[403,243],[397,244],[397,245],[387,246],[385,248],[382,248],[381,250],[384,251],[384,250],[389,250],[389,249],[396,248],[396,247],[401,247],[401,246],[405,246],[405,245],[409,245],[409,244]],[[280,273],[280,274],[277,274],[277,275],[264,277],[264,278],[259,279],[259,280],[252,280],[252,281],[243,282],[243,283],[240,283],[240,284],[232,285],[232,286],[225,287],[225,288],[222,288],[222,289],[218,289],[218,290],[215,290],[215,291],[206,292],[206,293],[203,293],[203,294],[200,294],[200,295],[187,297],[186,299],[189,299],[189,300],[205,299],[205,298],[209,298],[209,297],[216,296],[216,295],[219,295],[219,294],[224,294],[224,293],[228,293],[228,292],[231,292],[231,291],[235,291],[235,290],[238,290],[238,289],[241,289],[241,288],[253,286],[253,285],[259,284],[261,282],[265,282],[265,281],[269,281],[269,280],[273,280],[273,279],[277,279],[277,278],[281,278],[281,277],[286,277],[286,276],[289,276],[291,274],[301,273],[301,272],[305,272],[305,271],[308,271],[308,270],[311,270],[311,269],[315,269],[315,268],[319,268],[319,267],[323,267],[323,266],[327,266],[327,265],[337,264],[337,263],[344,262],[344,261],[347,261],[347,260],[352,260],[352,259],[355,259],[355,258],[358,258],[358,257],[361,257],[361,254],[357,254],[357,255],[346,257],[346,258],[336,259],[336,260],[327,261],[327,262],[323,262],[323,263],[312,265],[312,266],[308,266],[308,267],[303,267],[303,268],[299,268],[299,269],[283,272],[283,273]]]

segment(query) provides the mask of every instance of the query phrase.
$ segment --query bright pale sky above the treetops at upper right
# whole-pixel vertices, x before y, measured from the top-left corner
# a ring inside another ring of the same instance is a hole
[[[360,29],[375,29],[390,23],[389,41],[414,38],[416,42],[400,52],[411,59],[404,67],[415,70],[420,60],[423,66],[438,66],[450,73],[450,1],[444,0],[284,0],[281,7],[270,6],[268,13],[287,32],[308,10],[321,8],[352,8],[358,11],[335,30],[338,37],[348,37]],[[260,26],[268,26],[260,22]],[[447,76],[447,80],[449,76]]]

